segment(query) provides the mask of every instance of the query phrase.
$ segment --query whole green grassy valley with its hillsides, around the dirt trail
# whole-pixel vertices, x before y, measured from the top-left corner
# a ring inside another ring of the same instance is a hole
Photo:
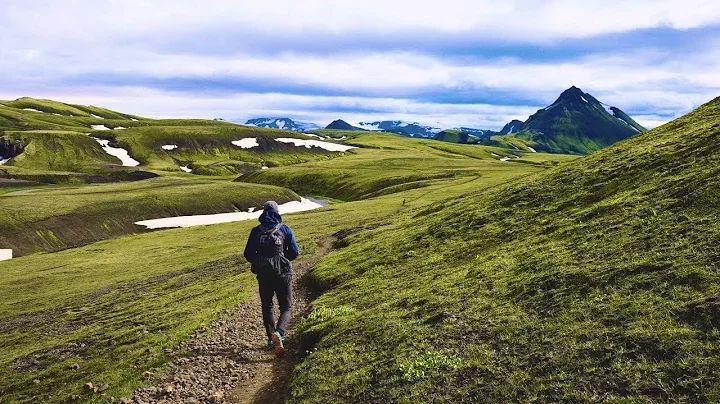
[[[241,256],[256,223],[135,222],[301,195],[331,203],[283,215],[316,257],[302,264],[312,300],[290,340],[289,402],[720,399],[720,99],[582,157],[132,116],[112,130],[140,162],[131,169],[70,130],[97,118],[52,115],[61,129],[38,128],[38,112],[6,112],[25,114],[3,129],[23,144],[5,182],[45,185],[0,190],[0,247],[17,252],[0,261],[3,401],[130,400],[162,386],[189,360],[188,341],[221,332],[256,293]],[[58,155],[83,163],[59,169]],[[125,180],[138,171],[147,179]],[[256,366],[256,340],[224,358]],[[253,377],[201,398],[224,389],[233,402]]]

